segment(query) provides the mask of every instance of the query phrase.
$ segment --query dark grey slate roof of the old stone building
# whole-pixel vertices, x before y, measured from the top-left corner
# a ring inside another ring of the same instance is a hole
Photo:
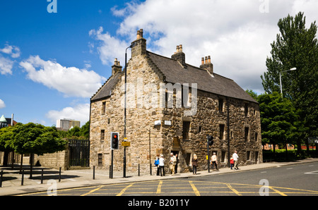
[[[184,68],[178,61],[165,56],[160,56],[147,51],[148,58],[159,68],[161,73],[165,76],[165,82],[171,83],[196,83],[198,89],[213,94],[222,95],[225,97],[232,97],[235,99],[243,99],[257,103],[244,89],[242,89],[236,82],[229,78],[213,73],[213,77],[204,69],[186,64]],[[117,73],[112,75],[104,85],[96,92],[90,101],[97,101],[110,97],[111,91],[114,86],[119,82],[123,75]]]

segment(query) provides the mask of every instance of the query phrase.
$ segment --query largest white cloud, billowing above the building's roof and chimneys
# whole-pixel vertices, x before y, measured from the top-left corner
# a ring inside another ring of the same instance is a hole
[[[114,6],[111,11],[125,17],[117,37],[134,41],[136,30],[143,28],[148,50],[170,57],[175,46],[183,44],[187,63],[199,66],[201,57],[211,55],[216,73],[232,78],[244,89],[261,91],[260,75],[266,71],[266,56],[279,32],[278,20],[299,11],[310,16],[307,20],[317,20],[317,6],[315,0],[146,0],[124,8]],[[121,42],[108,32],[104,35]],[[106,50],[122,54],[122,49]]]

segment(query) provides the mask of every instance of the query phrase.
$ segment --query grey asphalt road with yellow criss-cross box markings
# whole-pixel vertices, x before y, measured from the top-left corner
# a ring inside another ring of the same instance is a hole
[[[37,192],[32,196],[317,196],[318,163],[254,171],[237,170],[203,177],[119,183]],[[181,200],[179,200],[181,202]],[[183,201],[185,202],[185,201]]]

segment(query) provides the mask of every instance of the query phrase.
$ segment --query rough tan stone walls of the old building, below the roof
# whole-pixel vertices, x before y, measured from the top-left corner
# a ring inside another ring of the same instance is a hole
[[[240,165],[262,162],[258,104],[198,90],[196,114],[184,117],[184,108],[147,106],[151,102],[150,96],[153,96],[152,89],[147,85],[155,84],[155,91],[158,92],[162,78],[163,76],[146,55],[137,55],[130,59],[127,66],[127,83],[130,85],[127,87],[126,137],[131,142],[131,147],[126,147],[127,171],[137,171],[140,164],[141,173],[149,173],[149,164],[153,164],[158,154],[165,156],[165,166],[168,166],[170,152],[179,154],[180,172],[192,170],[193,154],[197,154],[199,158],[199,170],[204,170],[207,168],[207,134],[214,137],[214,144],[210,148],[211,154],[217,153],[219,166],[227,166],[228,110],[230,156],[237,150]],[[143,87],[143,94],[139,92],[140,87]],[[134,94],[131,94],[133,90]],[[219,111],[219,99],[223,99],[223,111]],[[106,103],[105,114],[102,114],[102,102]],[[245,104],[248,106],[247,116],[245,116]],[[110,132],[119,132],[119,149],[114,150],[114,170],[122,171],[124,147],[120,142],[124,138],[124,75],[112,90],[111,97],[92,102],[90,106],[90,166],[109,168]],[[160,121],[161,125],[155,125],[155,121]],[[164,121],[171,121],[171,125],[165,125]],[[182,139],[183,121],[190,122],[189,140]],[[220,125],[224,125],[222,139],[220,139]],[[245,128],[249,131],[247,140],[245,140]],[[101,130],[105,130],[105,140],[100,139]],[[254,139],[255,133],[257,140]],[[149,142],[151,142],[150,152]],[[100,164],[98,164],[98,155],[101,157]],[[168,167],[165,168],[167,170]]]

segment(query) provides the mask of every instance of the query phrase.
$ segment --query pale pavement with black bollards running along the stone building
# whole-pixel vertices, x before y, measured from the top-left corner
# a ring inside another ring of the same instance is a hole
[[[270,163],[259,163],[254,165],[239,166],[238,171],[251,171],[261,170],[264,168],[275,168],[281,166],[288,166],[294,164],[318,162],[318,159],[310,158],[300,161],[293,162],[270,162]],[[76,187],[89,187],[99,185],[112,185],[117,183],[135,183],[149,180],[165,180],[173,178],[191,178],[206,175],[216,175],[223,173],[234,173],[234,170],[230,168],[220,168],[219,171],[212,171],[210,173],[206,171],[198,171],[196,175],[192,172],[189,173],[177,173],[176,175],[165,175],[163,177],[155,175],[156,171],[153,170],[153,175],[146,175],[136,173],[130,173],[126,171],[126,178],[123,177],[122,171],[114,171],[113,178],[110,178],[109,170],[95,170],[95,179],[93,179],[93,169],[86,170],[71,170],[61,171],[61,178],[59,180],[59,170],[52,168],[41,168],[33,167],[33,178],[30,178],[30,167],[23,166],[25,169],[23,175],[20,174],[20,166],[11,167],[0,167],[0,172],[3,171],[2,175],[2,187],[0,187],[0,196],[28,194],[33,192],[46,192],[52,189],[52,186],[57,187],[57,190],[69,189]],[[41,174],[43,169],[43,181],[41,183]],[[1,179],[1,178],[0,178]],[[1,182],[1,181],[0,181]]]

